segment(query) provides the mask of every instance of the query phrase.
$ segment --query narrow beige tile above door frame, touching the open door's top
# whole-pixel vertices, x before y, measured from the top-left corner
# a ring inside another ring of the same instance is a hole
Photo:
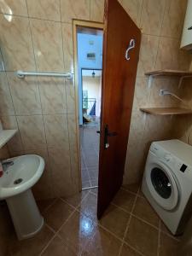
[[[90,0],[90,20],[103,22],[104,0]]]

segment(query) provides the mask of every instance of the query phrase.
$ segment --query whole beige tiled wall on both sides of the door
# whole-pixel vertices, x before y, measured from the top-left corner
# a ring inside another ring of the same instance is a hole
[[[4,129],[17,128],[9,153],[40,154],[44,176],[35,187],[41,198],[78,190],[73,84],[63,79],[15,77],[15,70],[73,70],[72,19],[102,21],[104,0],[6,0],[0,3],[0,116]],[[175,79],[154,79],[154,68],[188,69],[189,55],[179,50],[186,1],[119,0],[143,30],[125,183],[141,177],[148,143],[171,136],[172,119],[145,116],[138,108],[175,105],[158,96],[160,88],[177,90]],[[4,69],[3,69],[4,67]],[[170,101],[169,101],[170,100]]]

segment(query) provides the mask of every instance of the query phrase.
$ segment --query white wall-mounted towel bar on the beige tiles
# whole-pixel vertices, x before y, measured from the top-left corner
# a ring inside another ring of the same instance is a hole
[[[24,72],[18,70],[16,75],[20,79],[24,79],[26,76],[41,76],[41,77],[58,77],[58,78],[67,78],[73,79],[73,73],[43,73],[43,72]]]

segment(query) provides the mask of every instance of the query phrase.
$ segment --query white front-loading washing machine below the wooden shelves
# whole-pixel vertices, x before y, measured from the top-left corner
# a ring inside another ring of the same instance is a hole
[[[192,214],[192,147],[179,140],[152,143],[142,191],[172,234],[182,234]]]

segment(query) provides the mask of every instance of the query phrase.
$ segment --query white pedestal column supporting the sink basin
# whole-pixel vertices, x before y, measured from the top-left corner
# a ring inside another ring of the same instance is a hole
[[[35,236],[42,229],[44,218],[38,211],[31,189],[9,197],[6,201],[19,240]]]

